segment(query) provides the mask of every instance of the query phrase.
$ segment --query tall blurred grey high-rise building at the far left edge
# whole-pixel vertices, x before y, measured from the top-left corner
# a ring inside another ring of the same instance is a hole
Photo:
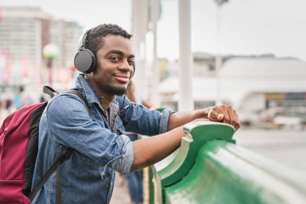
[[[42,62],[49,16],[37,7],[1,7],[1,85],[26,84]]]

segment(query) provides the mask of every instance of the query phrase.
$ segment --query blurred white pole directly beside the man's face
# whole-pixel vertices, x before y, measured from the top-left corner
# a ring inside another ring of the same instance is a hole
[[[135,90],[141,94],[142,98],[147,98],[146,76],[146,47],[145,35],[147,32],[148,21],[148,1],[147,0],[133,0],[132,10],[132,47],[135,54],[135,74],[132,78]],[[141,102],[141,101],[137,101]]]

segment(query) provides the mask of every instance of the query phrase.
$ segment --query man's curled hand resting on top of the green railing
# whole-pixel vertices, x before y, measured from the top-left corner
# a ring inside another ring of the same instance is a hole
[[[230,105],[215,105],[208,109],[208,119],[231,124],[235,130],[240,127],[238,115]]]

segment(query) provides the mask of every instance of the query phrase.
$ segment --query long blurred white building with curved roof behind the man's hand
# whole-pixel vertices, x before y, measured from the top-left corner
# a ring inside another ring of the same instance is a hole
[[[214,56],[200,53],[196,56],[192,65],[195,109],[213,106],[219,94],[222,103],[232,105],[244,123],[306,124],[306,62],[272,54],[225,56],[216,77]],[[178,64],[167,64],[164,70],[172,76],[162,80],[158,87],[161,105],[177,110]]]

